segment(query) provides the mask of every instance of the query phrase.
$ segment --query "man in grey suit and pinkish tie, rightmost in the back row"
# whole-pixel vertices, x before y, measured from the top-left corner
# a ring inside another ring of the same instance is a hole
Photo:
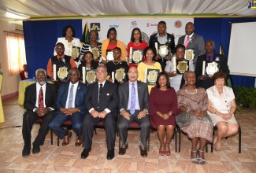
[[[186,35],[183,35],[178,40],[178,45],[183,44],[186,47],[186,50],[194,50],[195,57],[194,57],[194,63],[196,64],[198,56],[202,55],[203,53],[206,53],[204,50],[204,44],[203,38],[201,35],[197,35],[194,33],[195,27],[192,22],[188,22],[186,24]]]

